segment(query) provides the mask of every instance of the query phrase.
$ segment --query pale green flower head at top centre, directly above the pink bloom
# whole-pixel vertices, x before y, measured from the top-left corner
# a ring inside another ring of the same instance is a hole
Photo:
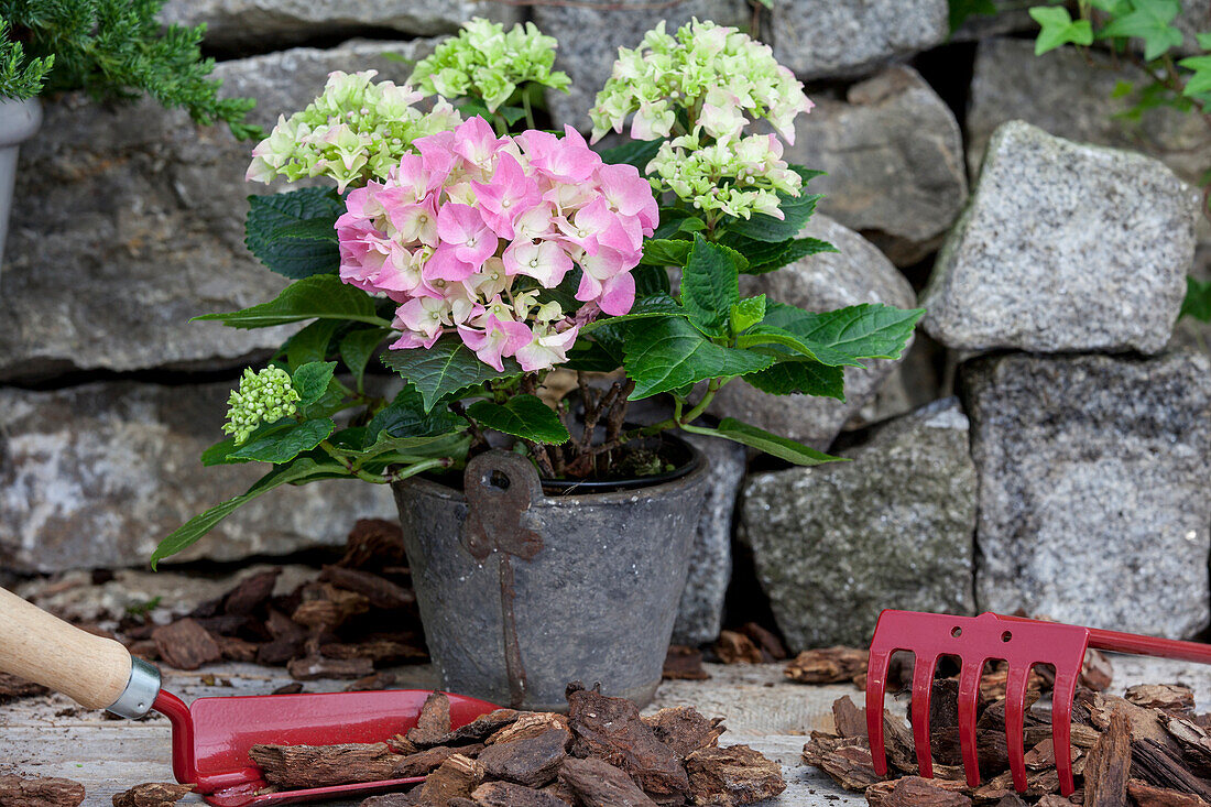
[[[501,23],[476,17],[417,64],[408,82],[444,98],[477,96],[497,111],[523,81],[553,90],[568,86],[568,75],[551,69],[556,47],[555,38],[534,23],[518,23],[506,33]]]

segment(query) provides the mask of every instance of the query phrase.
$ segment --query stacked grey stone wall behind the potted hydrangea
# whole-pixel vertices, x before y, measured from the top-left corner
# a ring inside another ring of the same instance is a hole
[[[550,98],[551,118],[587,130],[616,48],[660,19],[756,23],[817,104],[788,156],[828,171],[809,234],[842,252],[748,279],[752,292],[816,309],[919,298],[929,314],[903,360],[846,371],[844,404],[725,388],[716,414],[853,462],[759,459],[746,476],[742,451],[711,446],[677,637],[710,641],[728,618],[733,533],[794,648],[861,643],[883,607],[1169,636],[1211,620],[1209,330],[1171,338],[1182,279],[1211,254],[1186,184],[1211,165],[1211,136],[1170,113],[1113,118],[1130,68],[1033,57],[1018,11],[947,44],[946,0],[171,0],[165,13],[207,23],[224,92],[258,98],[263,125],[333,69],[402,80],[390,56],[421,58],[481,15],[559,40],[574,90]],[[243,183],[248,149],[145,102],[47,101],[0,271],[0,570],[142,566],[254,477],[197,452],[240,368],[283,332],[188,321],[280,287],[242,244],[245,196],[264,191]],[[177,560],[288,555],[392,514],[366,485],[291,490]],[[734,603],[753,594],[744,583]]]

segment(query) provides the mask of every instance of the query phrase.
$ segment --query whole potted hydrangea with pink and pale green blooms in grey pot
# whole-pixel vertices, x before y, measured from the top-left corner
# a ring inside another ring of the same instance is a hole
[[[920,315],[740,296],[742,273],[832,250],[798,237],[815,172],[746,131],[790,138],[810,108],[768,47],[711,23],[649,33],[593,110],[598,136],[630,119],[635,139],[597,153],[535,128],[535,88],[567,84],[553,45],[475,21],[417,65],[419,90],[335,73],[257,147],[251,178],[337,187],[251,198],[248,246],[294,282],[202,319],[310,324],[246,371],[231,437],[203,454],[269,473],[154,556],[281,485],[390,483],[443,686],[527,708],[575,679],[655,691],[710,474],[676,433],[836,459],[704,423],[721,387],[842,397],[843,368],[899,356]],[[449,99],[423,114],[426,92]],[[367,384],[377,354],[395,395]],[[632,423],[655,396],[667,416]]]

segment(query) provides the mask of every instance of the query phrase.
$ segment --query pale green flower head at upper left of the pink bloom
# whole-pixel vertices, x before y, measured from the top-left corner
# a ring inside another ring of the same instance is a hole
[[[449,103],[438,101],[424,114],[413,105],[424,93],[391,81],[374,84],[375,75],[375,70],[331,73],[323,93],[306,109],[277,119],[270,136],[253,149],[246,178],[329,177],[344,193],[350,184],[385,179],[418,137],[461,122]]]

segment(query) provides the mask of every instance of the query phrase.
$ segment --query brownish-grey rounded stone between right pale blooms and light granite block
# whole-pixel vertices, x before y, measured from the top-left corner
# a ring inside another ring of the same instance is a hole
[[[816,98],[799,115],[786,159],[827,171],[810,189],[820,210],[860,231],[899,265],[941,242],[968,198],[963,137],[949,107],[907,67]]]

